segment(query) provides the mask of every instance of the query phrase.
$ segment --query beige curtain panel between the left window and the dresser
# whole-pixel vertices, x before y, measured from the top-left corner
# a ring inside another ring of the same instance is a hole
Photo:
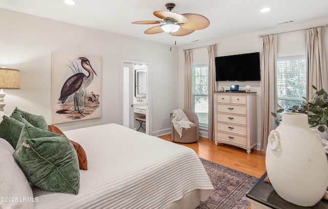
[[[213,107],[213,91],[216,90],[215,81],[215,56],[216,44],[209,46],[209,139],[214,140],[214,107]]]

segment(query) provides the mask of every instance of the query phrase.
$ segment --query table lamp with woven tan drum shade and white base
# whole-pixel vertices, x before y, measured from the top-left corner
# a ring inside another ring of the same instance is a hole
[[[20,89],[19,70],[0,68],[0,111],[4,111],[4,89]]]

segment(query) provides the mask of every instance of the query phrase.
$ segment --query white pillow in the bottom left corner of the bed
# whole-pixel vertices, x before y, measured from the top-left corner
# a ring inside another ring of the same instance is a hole
[[[12,156],[14,151],[0,138],[0,208],[33,208],[32,188]]]

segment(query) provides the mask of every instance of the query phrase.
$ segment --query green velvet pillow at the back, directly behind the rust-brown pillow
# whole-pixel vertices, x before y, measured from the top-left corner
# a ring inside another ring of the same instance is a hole
[[[26,122],[32,124],[35,127],[48,130],[48,123],[43,116],[37,116],[32,113],[18,109],[17,107],[11,113],[12,118],[26,124]]]

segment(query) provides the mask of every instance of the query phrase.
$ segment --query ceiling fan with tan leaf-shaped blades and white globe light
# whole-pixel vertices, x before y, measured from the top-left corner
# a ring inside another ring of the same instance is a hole
[[[161,24],[145,30],[146,34],[156,34],[167,32],[174,36],[188,35],[195,30],[207,28],[210,25],[208,18],[193,13],[178,14],[171,12],[175,4],[168,3],[165,5],[169,11],[154,11],[153,14],[162,21],[136,21],[133,24]]]

